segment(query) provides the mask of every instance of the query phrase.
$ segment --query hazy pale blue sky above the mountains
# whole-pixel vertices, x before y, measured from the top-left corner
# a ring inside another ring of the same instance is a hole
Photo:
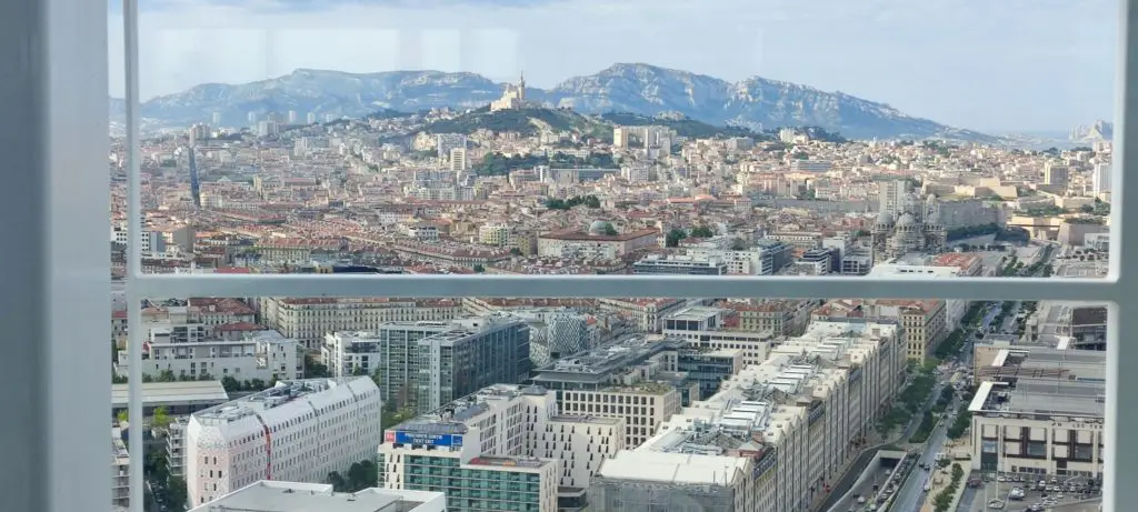
[[[117,2],[115,2],[117,5]],[[550,86],[613,63],[840,90],[976,130],[1110,119],[1116,0],[141,0],[143,98],[298,67]],[[110,90],[121,96],[113,8]]]

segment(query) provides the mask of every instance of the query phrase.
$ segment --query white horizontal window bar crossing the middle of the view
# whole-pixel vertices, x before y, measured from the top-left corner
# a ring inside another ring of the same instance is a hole
[[[688,275],[172,275],[131,280],[147,297],[780,297],[1114,300],[1111,279]]]

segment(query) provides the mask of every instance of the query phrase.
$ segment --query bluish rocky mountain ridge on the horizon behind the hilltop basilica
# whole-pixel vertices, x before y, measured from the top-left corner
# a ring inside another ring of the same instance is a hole
[[[475,109],[497,99],[504,83],[469,73],[395,71],[347,73],[298,68],[287,75],[241,84],[207,83],[142,104],[150,126],[187,126],[212,119],[244,126],[248,113],[295,110],[361,117],[377,109],[419,112]],[[884,102],[827,92],[793,82],[752,76],[729,82],[710,75],[643,63],[618,63],[592,75],[571,76],[549,89],[526,88],[527,100],[583,114],[679,113],[692,119],[754,131],[819,126],[852,139],[945,138],[976,142],[999,139],[908,116]],[[121,115],[113,101],[112,115]]]

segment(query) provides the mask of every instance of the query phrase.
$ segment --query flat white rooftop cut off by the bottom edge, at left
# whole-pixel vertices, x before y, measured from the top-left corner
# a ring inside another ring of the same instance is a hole
[[[446,512],[446,496],[426,490],[336,493],[330,484],[259,480],[190,512]]]

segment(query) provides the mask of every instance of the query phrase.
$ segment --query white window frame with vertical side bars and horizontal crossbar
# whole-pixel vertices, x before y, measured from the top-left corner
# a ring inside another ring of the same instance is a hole
[[[129,166],[127,324],[130,327],[130,416],[142,414],[141,347],[146,333],[141,300],[148,297],[864,297],[943,298],[991,300],[1081,300],[1108,304],[1107,396],[1105,426],[1104,505],[1107,511],[1129,510],[1138,503],[1138,486],[1125,485],[1138,477],[1138,371],[1123,372],[1122,361],[1138,362],[1138,344],[1122,342],[1122,332],[1138,332],[1138,281],[1122,262],[1138,262],[1138,236],[1119,228],[1123,218],[1138,225],[1138,207],[1123,208],[1123,198],[1138,200],[1138,179],[1128,180],[1123,168],[1138,166],[1127,157],[1138,155],[1138,0],[1120,0],[1119,67],[1115,91],[1114,208],[1111,214],[1110,270],[1105,279],[1000,279],[963,278],[783,278],[783,276],[638,276],[638,275],[364,275],[364,274],[143,274],[141,271],[142,214],[139,191],[139,77],[138,6],[123,1],[126,41],[126,124]],[[1130,77],[1133,80],[1128,80]],[[1128,88],[1130,83],[1133,86]],[[1138,173],[1135,170],[1132,173]],[[1138,205],[1138,203],[1136,203]],[[1130,297],[1130,302],[1124,299]],[[131,436],[132,461],[142,461],[142,436]],[[142,464],[131,464],[131,509],[142,511]],[[1120,478],[1127,474],[1128,478]],[[1131,505],[1125,505],[1131,504]]]

